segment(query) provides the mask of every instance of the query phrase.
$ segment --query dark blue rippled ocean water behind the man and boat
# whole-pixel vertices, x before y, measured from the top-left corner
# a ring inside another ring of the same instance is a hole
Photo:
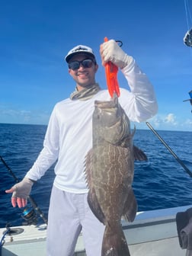
[[[157,132],[181,162],[192,171],[192,132]],[[21,180],[33,165],[43,147],[45,133],[46,126],[43,125],[0,123],[0,156],[8,165],[7,168],[0,161],[1,228],[7,224],[20,226],[24,222],[21,217],[23,209],[11,206],[11,194],[5,194],[5,190],[14,185],[15,177]],[[138,210],[157,210],[192,204],[192,178],[148,126],[146,130],[136,130],[134,144],[148,157],[147,162],[135,162],[133,190]],[[52,167],[34,184],[30,194],[46,217],[53,179]],[[28,206],[30,207],[30,203]],[[39,221],[42,221],[40,217]]]

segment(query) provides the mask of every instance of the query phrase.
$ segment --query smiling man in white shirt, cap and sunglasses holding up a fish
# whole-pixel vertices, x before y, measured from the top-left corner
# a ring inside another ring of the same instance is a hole
[[[120,88],[120,104],[132,121],[141,122],[157,111],[155,94],[146,75],[114,40],[101,44],[102,64],[111,61],[125,75],[130,91]],[[104,226],[87,203],[85,156],[92,144],[94,101],[110,100],[107,90],[95,82],[98,70],[94,52],[88,46],[75,46],[66,56],[69,74],[76,88],[70,98],[56,104],[46,130],[43,149],[23,181],[13,193],[13,206],[24,207],[34,181],[56,162],[56,178],[50,198],[47,229],[47,256],[72,256],[82,231],[88,256],[101,255]]]

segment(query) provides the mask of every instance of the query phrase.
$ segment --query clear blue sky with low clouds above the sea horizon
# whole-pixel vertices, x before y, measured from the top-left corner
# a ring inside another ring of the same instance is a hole
[[[96,80],[107,88],[99,46],[108,37],[123,41],[154,85],[158,114],[149,123],[157,130],[192,131],[192,107],[183,102],[192,90],[192,50],[183,43],[190,12],[192,0],[2,1],[0,123],[48,123],[56,102],[75,88],[63,58],[78,44],[94,50]],[[120,72],[118,77],[126,88]]]

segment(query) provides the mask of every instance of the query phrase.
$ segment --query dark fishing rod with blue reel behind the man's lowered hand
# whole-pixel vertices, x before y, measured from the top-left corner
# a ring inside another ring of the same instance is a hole
[[[8,171],[10,172],[10,174],[12,175],[12,177],[14,178],[14,181],[16,183],[19,182],[18,178],[14,175],[14,172],[11,170],[11,168],[9,168],[8,164],[5,162],[5,160],[2,158],[2,156],[0,155],[0,159],[2,161],[2,163],[5,165],[5,167],[8,169]],[[35,200],[33,199],[33,197],[31,197],[30,195],[28,196],[28,200],[30,201],[32,207],[34,208],[34,210],[37,211],[37,213],[39,214],[39,216],[41,217],[41,219],[43,219],[43,222],[45,222],[47,224],[47,219],[44,215],[44,213],[40,210],[39,206],[37,206],[37,203],[35,202]],[[34,215],[32,213],[30,213],[29,210],[24,210],[23,213],[23,217],[24,219],[27,219],[27,216],[29,217],[34,217]]]

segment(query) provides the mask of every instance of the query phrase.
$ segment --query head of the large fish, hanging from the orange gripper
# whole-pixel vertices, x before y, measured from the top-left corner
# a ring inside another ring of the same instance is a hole
[[[94,101],[94,135],[114,145],[130,134],[130,120],[114,97],[110,101]]]

